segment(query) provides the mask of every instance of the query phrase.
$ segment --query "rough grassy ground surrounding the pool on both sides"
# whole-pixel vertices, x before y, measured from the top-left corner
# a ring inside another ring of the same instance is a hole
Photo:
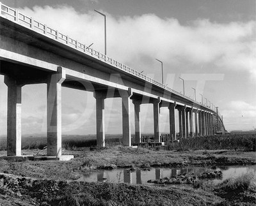
[[[22,151],[24,155],[37,152],[39,150]],[[42,151],[42,154],[44,152]],[[71,161],[1,159],[0,205],[232,205],[225,198],[200,188],[88,183],[74,180],[86,172],[104,168],[256,164],[255,152],[244,151],[177,152],[159,148],[131,149],[116,146],[95,151],[80,148],[63,151],[63,154],[72,154],[75,158]],[[0,151],[0,156],[4,155],[5,152]],[[253,198],[249,205],[254,204]]]

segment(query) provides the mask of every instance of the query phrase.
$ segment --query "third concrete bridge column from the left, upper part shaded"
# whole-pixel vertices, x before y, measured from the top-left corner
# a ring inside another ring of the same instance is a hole
[[[96,99],[96,136],[97,136],[97,146],[105,147],[105,108],[104,99],[106,94],[95,91],[94,98]]]

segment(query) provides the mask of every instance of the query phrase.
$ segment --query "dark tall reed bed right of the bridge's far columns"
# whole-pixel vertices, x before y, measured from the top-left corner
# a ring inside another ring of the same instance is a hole
[[[168,150],[216,150],[234,149],[243,151],[255,151],[256,134],[232,134],[198,136],[195,138],[182,138],[179,142],[167,144]]]

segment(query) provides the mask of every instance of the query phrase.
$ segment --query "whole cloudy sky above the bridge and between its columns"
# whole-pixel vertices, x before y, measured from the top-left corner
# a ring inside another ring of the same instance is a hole
[[[191,87],[220,108],[228,131],[256,128],[255,0],[1,0],[20,12],[181,92]],[[7,87],[0,76],[0,135],[6,134]],[[205,101],[205,99],[204,99]],[[45,133],[46,85],[22,87],[22,134]],[[132,105],[131,105],[132,106]],[[95,133],[95,99],[63,88],[63,133]],[[132,128],[133,128],[133,108]],[[152,132],[152,105],[141,107],[143,132]],[[120,98],[106,100],[106,132],[122,133]],[[161,109],[168,132],[168,110]]]

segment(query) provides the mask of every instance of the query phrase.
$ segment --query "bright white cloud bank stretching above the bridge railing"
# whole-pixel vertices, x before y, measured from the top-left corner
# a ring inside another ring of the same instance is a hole
[[[78,13],[68,6],[20,11],[87,45],[94,43],[96,50],[104,52],[104,21],[94,11]],[[222,70],[244,70],[256,77],[255,21],[218,24],[198,19],[184,26],[175,18],[154,14],[106,15],[108,55],[122,63],[138,65],[141,59],[161,57],[167,64],[212,63]]]

